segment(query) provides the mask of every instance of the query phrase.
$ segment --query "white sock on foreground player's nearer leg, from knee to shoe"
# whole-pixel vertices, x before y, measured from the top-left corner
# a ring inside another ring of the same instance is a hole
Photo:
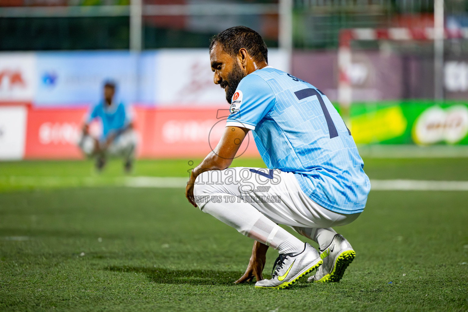
[[[241,234],[268,245],[280,254],[297,254],[304,250],[304,243],[282,227],[265,217],[251,204],[241,200],[235,203],[226,203],[224,196],[233,196],[227,193],[217,193],[211,196],[220,196],[221,203],[212,200],[205,204],[202,211],[212,215],[219,221],[234,227]]]

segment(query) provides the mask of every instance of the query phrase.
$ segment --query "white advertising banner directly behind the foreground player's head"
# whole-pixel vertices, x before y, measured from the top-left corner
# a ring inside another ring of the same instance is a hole
[[[270,49],[269,65],[289,71],[287,53]],[[226,104],[226,94],[213,82],[208,49],[163,49],[156,57],[154,98],[161,106]]]

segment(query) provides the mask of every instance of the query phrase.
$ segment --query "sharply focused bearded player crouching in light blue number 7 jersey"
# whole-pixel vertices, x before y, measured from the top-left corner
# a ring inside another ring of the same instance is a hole
[[[314,268],[309,281],[339,281],[355,252],[332,227],[358,218],[370,190],[351,132],[320,90],[268,66],[267,47],[252,29],[219,33],[210,60],[231,114],[219,144],[193,169],[186,196],[256,240],[236,283],[255,276],[255,287],[285,288]],[[228,168],[250,130],[268,169]],[[278,224],[317,242],[320,254]],[[268,246],[279,256],[263,280]]]

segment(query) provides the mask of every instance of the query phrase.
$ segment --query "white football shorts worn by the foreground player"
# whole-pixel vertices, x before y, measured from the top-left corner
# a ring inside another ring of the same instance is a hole
[[[230,196],[212,196],[218,193]],[[323,208],[304,194],[293,173],[278,169],[232,167],[206,171],[195,181],[194,196],[200,210],[210,200],[245,201],[273,222],[293,228],[346,225],[359,216]]]

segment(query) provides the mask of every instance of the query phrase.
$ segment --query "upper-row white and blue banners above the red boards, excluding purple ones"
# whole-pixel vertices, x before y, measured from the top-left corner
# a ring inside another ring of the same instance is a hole
[[[289,71],[285,52],[270,49],[269,63]],[[105,80],[116,97],[153,106],[219,106],[224,91],[213,83],[207,49],[143,51],[0,52],[0,102],[35,107],[76,107],[102,97]]]

